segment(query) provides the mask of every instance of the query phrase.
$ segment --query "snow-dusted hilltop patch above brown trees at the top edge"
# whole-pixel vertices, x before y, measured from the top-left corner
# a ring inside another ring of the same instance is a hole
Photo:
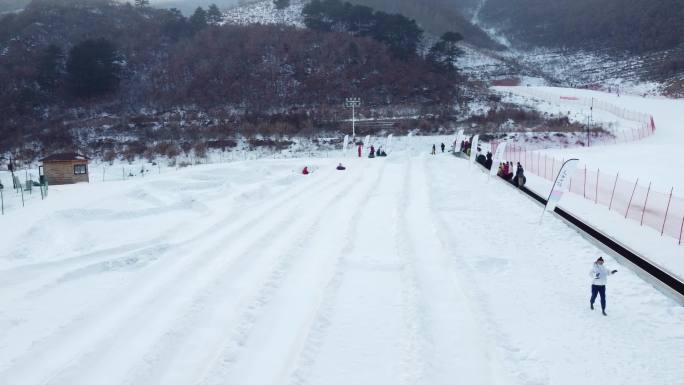
[[[256,1],[224,11],[227,24],[285,24],[304,28],[302,9],[307,0],[291,0],[290,6],[276,9],[272,0]]]

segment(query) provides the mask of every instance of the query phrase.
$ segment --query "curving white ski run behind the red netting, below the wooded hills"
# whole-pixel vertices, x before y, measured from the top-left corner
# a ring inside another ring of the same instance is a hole
[[[521,104],[532,104],[535,108],[550,113],[566,114],[570,112],[571,119],[586,123],[590,115],[594,122],[602,122],[606,126],[613,125],[616,129],[630,130],[633,122],[619,119],[607,112],[596,110],[593,113],[588,107],[573,103],[550,104],[533,102],[527,96],[527,91],[542,91],[560,96],[575,96],[594,98],[611,103],[629,111],[637,111],[652,115],[656,124],[655,134],[645,139],[621,144],[598,145],[591,147],[576,147],[566,149],[547,150],[558,158],[577,157],[582,164],[591,169],[601,169],[612,175],[621,176],[642,182],[653,182],[658,191],[668,191],[674,188],[676,195],[684,195],[684,156],[678,154],[684,144],[684,99],[666,99],[662,97],[642,97],[635,95],[620,95],[600,91],[591,91],[560,87],[495,87],[503,93],[511,93],[515,97],[509,99]]]

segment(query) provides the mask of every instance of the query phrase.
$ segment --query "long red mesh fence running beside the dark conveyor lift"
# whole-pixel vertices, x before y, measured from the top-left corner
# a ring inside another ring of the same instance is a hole
[[[493,145],[492,151],[496,147]],[[520,162],[525,172],[554,182],[565,159],[542,154],[539,151],[509,143],[505,151],[506,161]],[[496,166],[494,166],[496,167]],[[578,169],[570,179],[570,192],[602,205],[609,211],[648,226],[661,235],[684,241],[684,199],[668,192],[656,191],[651,183],[629,181],[601,170]]]

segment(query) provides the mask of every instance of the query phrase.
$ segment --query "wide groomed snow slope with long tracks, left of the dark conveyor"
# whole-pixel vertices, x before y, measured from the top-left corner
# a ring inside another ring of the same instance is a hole
[[[426,152],[51,187],[0,217],[0,384],[684,384],[684,308],[604,255],[589,310],[596,247]]]

